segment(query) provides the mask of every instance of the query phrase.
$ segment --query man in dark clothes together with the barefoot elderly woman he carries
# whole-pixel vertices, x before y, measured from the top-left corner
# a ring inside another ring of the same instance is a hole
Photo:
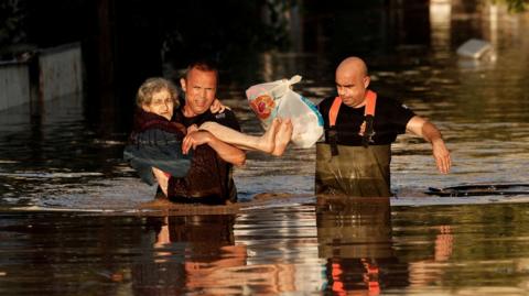
[[[176,87],[164,78],[150,78],[138,90],[125,158],[145,182],[152,184],[154,177],[171,201],[235,202],[233,165],[245,164],[244,150],[279,156],[292,135],[289,119],[276,119],[264,134],[252,136],[240,132],[231,110],[212,112],[217,76],[208,63],[190,65],[181,79],[183,106]]]

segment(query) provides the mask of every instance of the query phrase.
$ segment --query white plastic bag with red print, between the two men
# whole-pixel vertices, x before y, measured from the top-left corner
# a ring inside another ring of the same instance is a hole
[[[295,75],[290,80],[277,80],[251,86],[246,97],[251,110],[268,130],[277,117],[292,120],[292,143],[300,147],[312,146],[323,134],[323,118],[314,103],[291,89],[301,80]]]

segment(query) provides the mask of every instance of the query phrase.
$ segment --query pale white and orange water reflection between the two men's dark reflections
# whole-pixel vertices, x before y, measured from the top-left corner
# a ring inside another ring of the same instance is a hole
[[[248,295],[319,295],[325,285],[317,256],[313,205],[278,205],[241,213],[235,238],[247,245],[239,284]]]

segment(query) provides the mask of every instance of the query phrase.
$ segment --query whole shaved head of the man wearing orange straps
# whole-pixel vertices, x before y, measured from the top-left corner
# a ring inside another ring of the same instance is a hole
[[[367,66],[361,58],[347,57],[336,68],[336,90],[342,101],[353,108],[365,105],[366,89],[370,78],[367,75]]]

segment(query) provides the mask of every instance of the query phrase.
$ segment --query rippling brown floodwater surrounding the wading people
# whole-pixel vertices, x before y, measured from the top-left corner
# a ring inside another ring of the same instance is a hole
[[[101,136],[82,97],[2,112],[0,295],[528,295],[529,195],[424,194],[529,179],[529,22],[500,17],[495,58],[457,58],[441,24],[433,47],[369,61],[374,89],[431,119],[454,162],[441,175],[428,144],[399,138],[389,200],[314,197],[314,150],[290,147],[248,153],[237,206],[148,210],[155,188],[121,161],[126,133]],[[262,55],[256,83],[301,74],[317,102],[333,92],[322,59]],[[222,97],[257,134],[246,87]]]

